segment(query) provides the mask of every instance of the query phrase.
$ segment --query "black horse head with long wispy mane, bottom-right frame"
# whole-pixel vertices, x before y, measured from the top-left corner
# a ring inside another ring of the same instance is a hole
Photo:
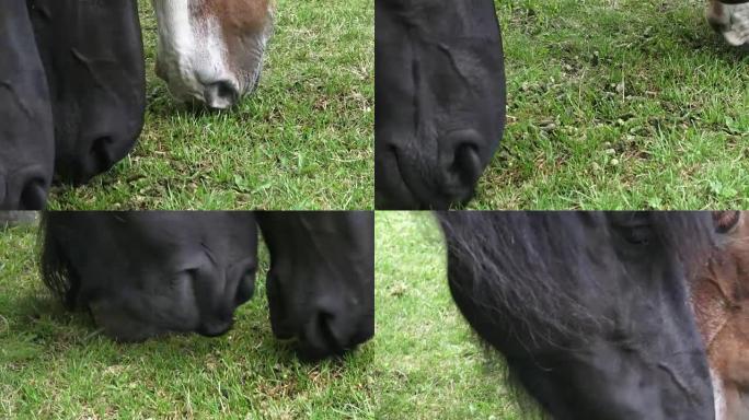
[[[445,212],[450,291],[556,419],[713,419],[688,272],[710,213]]]

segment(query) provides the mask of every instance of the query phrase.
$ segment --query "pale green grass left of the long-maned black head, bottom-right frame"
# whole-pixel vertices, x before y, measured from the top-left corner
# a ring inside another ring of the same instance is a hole
[[[431,214],[378,212],[374,244],[379,417],[520,419],[502,363],[452,303]]]

